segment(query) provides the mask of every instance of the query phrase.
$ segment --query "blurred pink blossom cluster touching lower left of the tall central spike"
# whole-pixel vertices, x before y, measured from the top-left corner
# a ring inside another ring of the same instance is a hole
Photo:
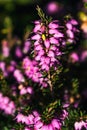
[[[47,83],[45,82],[46,79],[44,79],[40,73],[37,62],[35,60],[31,60],[28,57],[25,57],[23,59],[23,69],[25,70],[25,74],[34,82],[40,83],[44,87],[47,86]]]

